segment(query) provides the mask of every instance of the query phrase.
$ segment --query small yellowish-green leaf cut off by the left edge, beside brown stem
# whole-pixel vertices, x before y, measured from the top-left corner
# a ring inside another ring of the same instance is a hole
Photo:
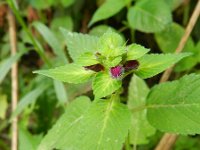
[[[7,96],[0,93],[0,119],[5,119],[7,108]]]

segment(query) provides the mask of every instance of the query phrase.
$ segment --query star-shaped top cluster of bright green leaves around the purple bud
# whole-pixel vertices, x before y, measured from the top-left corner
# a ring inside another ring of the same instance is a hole
[[[188,54],[149,55],[149,49],[138,44],[126,46],[121,35],[108,30],[101,37],[61,30],[66,38],[72,64],[39,73],[69,83],[83,83],[93,79],[96,98],[111,95],[122,87],[127,74],[135,72],[142,78],[152,77]],[[138,67],[139,65],[139,67]]]

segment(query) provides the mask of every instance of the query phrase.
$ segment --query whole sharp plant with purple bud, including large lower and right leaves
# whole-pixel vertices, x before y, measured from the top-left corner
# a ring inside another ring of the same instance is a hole
[[[100,37],[61,32],[73,63],[35,73],[68,83],[91,82],[94,100],[80,96],[72,101],[39,150],[120,150],[124,143],[127,149],[145,143],[157,129],[200,133],[200,76],[187,75],[152,89],[143,80],[190,54],[147,54],[149,49],[126,45],[123,37],[111,30]],[[128,96],[122,98],[122,82],[129,74],[133,77]]]

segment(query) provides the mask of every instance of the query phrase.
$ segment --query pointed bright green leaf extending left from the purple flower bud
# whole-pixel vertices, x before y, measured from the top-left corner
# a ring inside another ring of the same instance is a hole
[[[94,71],[86,70],[84,67],[73,63],[54,69],[34,71],[34,73],[68,83],[83,83],[90,80],[95,74]]]

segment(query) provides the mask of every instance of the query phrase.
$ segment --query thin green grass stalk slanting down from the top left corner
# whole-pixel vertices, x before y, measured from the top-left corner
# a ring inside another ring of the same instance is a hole
[[[14,15],[16,16],[16,19],[18,20],[18,22],[20,23],[20,25],[22,26],[22,28],[24,29],[24,31],[26,32],[26,34],[29,36],[29,38],[32,41],[33,46],[35,47],[36,52],[40,55],[40,57],[42,58],[42,60],[49,66],[51,67],[51,63],[48,60],[48,58],[45,56],[43,49],[41,49],[36,40],[34,39],[32,33],[30,32],[30,30],[28,29],[28,27],[26,26],[24,20],[22,19],[19,10],[17,9],[15,3],[13,0],[7,0],[9,7],[12,9]]]

